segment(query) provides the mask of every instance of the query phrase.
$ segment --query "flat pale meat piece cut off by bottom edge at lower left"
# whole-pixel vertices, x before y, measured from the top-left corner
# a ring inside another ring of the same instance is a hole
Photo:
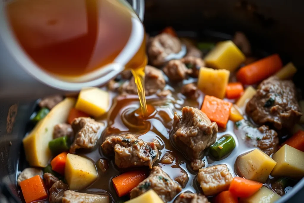
[[[62,203],[100,203],[109,202],[109,196],[99,194],[87,194],[71,190],[64,191]]]

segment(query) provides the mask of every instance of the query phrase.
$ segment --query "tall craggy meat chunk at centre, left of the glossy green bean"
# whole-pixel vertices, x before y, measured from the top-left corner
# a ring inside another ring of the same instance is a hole
[[[183,107],[182,116],[176,112],[173,118],[173,140],[179,150],[191,159],[199,159],[203,152],[216,141],[218,132],[216,122],[201,110],[193,107]]]

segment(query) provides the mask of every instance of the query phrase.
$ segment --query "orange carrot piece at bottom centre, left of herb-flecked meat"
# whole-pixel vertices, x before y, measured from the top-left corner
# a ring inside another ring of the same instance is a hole
[[[136,170],[122,173],[112,179],[113,186],[119,197],[128,194],[134,187],[140,184],[141,181],[145,180],[145,171]]]

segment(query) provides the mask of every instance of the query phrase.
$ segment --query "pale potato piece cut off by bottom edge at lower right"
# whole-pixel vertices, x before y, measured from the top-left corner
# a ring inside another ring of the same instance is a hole
[[[269,189],[262,186],[254,195],[249,198],[240,198],[240,203],[274,203],[281,196]]]

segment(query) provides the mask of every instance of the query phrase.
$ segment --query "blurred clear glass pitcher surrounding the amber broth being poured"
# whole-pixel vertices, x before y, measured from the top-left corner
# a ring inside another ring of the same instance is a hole
[[[138,17],[136,16],[136,18],[143,20],[144,0],[113,1],[120,2],[128,7],[134,11],[132,12],[134,16],[137,14]],[[58,90],[75,92],[79,91],[82,87],[102,86],[124,69],[124,65],[136,53],[136,50],[133,49],[134,43],[140,43],[140,40],[143,40],[133,36],[133,39],[127,42],[125,46],[126,50],[123,49],[113,63],[107,64],[98,71],[85,75],[85,77],[71,79],[69,77],[54,76],[41,69],[16,40],[16,36],[8,22],[7,10],[5,8],[5,5],[9,2],[12,1],[0,0],[0,99],[8,96],[23,97],[33,94],[35,97],[40,97],[43,96],[42,94],[57,93]],[[75,15],[75,20],[79,15]],[[140,20],[134,24],[132,30],[140,29]],[[144,32],[144,29],[142,29],[142,32]],[[26,35],[26,33],[24,34]],[[130,36],[132,38],[132,35]]]

